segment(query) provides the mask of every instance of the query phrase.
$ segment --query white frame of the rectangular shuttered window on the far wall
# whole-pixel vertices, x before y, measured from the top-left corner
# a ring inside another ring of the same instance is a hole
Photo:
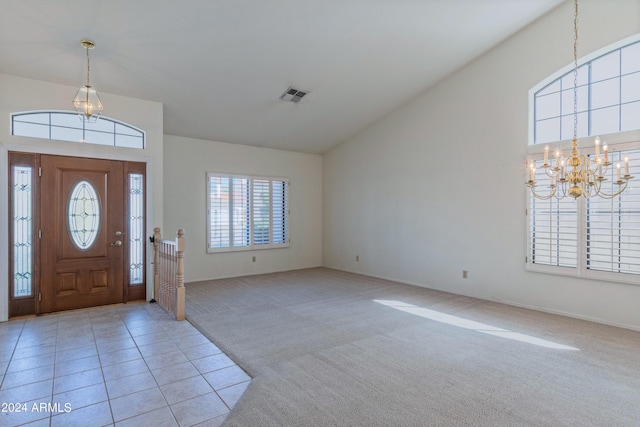
[[[229,231],[229,246],[225,247],[211,247],[211,228],[212,228],[212,211],[210,209],[211,206],[211,192],[210,192],[210,181],[212,178],[228,178],[229,179],[229,215],[230,215],[230,231]],[[232,215],[233,215],[233,179],[247,179],[249,181],[249,245],[246,246],[233,246],[233,225],[232,225]],[[255,215],[254,215],[254,181],[269,181],[269,243],[268,244],[255,244],[254,241],[254,230],[255,230]],[[274,182],[284,182],[286,185],[286,192],[284,194],[284,211],[285,211],[285,234],[286,241],[282,243],[274,243],[274,221],[273,221],[273,183]],[[263,250],[263,249],[279,249],[279,248],[288,248],[291,243],[291,188],[290,181],[288,178],[284,177],[265,177],[265,176],[254,176],[254,175],[237,175],[237,174],[229,174],[229,173],[217,173],[217,172],[207,172],[206,178],[206,206],[207,206],[207,241],[206,241],[206,250],[207,253],[219,253],[219,252],[239,252],[239,251],[253,251],[253,250]]]

